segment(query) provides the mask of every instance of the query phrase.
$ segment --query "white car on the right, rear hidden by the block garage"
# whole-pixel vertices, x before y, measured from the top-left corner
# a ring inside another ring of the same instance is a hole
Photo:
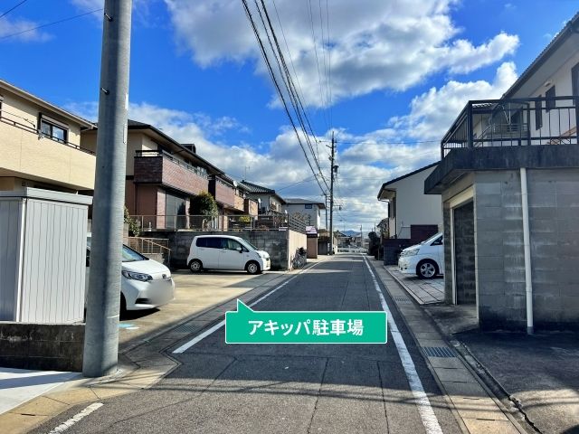
[[[444,237],[432,235],[420,244],[402,250],[398,269],[404,274],[416,274],[419,278],[434,278],[444,270]]]

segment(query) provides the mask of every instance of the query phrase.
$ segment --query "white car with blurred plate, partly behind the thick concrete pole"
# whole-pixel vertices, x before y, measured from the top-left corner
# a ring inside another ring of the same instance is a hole
[[[171,270],[123,244],[120,310],[144,310],[166,305],[175,297]],[[86,288],[89,288],[90,237],[87,239]],[[88,290],[87,290],[88,293]]]

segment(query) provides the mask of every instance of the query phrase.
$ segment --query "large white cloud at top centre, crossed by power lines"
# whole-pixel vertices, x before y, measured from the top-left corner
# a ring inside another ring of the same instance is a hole
[[[209,67],[221,61],[257,60],[256,72],[267,75],[241,2],[165,1],[176,39],[192,53],[196,63]],[[407,90],[438,71],[475,71],[516,50],[518,37],[508,33],[498,33],[479,45],[455,39],[460,33],[451,20],[455,3],[456,0],[368,0],[362,7],[349,0],[332,1],[328,10],[329,39],[325,11],[321,14],[326,50],[320,42],[322,25],[316,7],[311,11],[315,38],[307,2],[276,2],[283,34],[276,10],[270,6],[269,13],[289,68],[292,69],[290,60],[296,68],[304,103],[327,107],[324,59],[331,59],[331,94],[335,103],[376,90]],[[317,6],[315,2],[312,5]],[[257,11],[252,14],[259,21]],[[261,33],[264,34],[262,29]]]

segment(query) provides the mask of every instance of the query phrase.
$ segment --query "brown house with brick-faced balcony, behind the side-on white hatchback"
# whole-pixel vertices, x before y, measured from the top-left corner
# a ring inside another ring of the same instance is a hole
[[[95,130],[82,135],[84,146],[96,147],[96,140]],[[208,223],[188,215],[191,198],[202,192],[214,195],[222,216],[254,211],[233,179],[198,156],[195,145],[180,144],[149,124],[128,120],[126,170],[125,204],[145,230],[226,225],[223,217]]]

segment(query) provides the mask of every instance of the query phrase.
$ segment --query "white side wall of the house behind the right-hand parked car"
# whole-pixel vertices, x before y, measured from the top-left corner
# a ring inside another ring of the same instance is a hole
[[[400,234],[403,226],[409,228],[412,224],[438,224],[439,229],[442,228],[441,195],[424,194],[424,180],[435,168],[432,166],[388,185],[389,189],[396,190],[395,231],[391,226],[391,237],[394,233]],[[394,223],[394,219],[389,220]]]

